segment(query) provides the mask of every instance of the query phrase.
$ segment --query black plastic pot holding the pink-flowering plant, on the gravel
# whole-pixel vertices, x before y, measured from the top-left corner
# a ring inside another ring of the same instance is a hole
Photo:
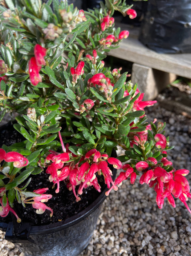
[[[113,169],[113,180],[115,177]],[[5,239],[15,243],[25,256],[77,256],[91,240],[106,191],[105,186],[90,206],[65,221],[43,226],[15,221],[0,223],[0,229],[6,232]]]

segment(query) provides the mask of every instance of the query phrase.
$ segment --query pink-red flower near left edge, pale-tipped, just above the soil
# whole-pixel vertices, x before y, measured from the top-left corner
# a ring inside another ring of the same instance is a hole
[[[17,168],[24,167],[29,163],[27,158],[25,158],[22,154],[14,151],[6,153],[4,160],[6,162],[13,162],[13,166]]]

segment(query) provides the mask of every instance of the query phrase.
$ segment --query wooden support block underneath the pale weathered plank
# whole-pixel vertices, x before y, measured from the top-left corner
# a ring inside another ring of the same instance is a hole
[[[176,80],[176,75],[133,63],[132,83],[137,83],[144,100],[153,100],[167,85]]]

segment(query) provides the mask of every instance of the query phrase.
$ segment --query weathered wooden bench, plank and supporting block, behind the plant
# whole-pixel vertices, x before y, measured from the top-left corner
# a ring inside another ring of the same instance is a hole
[[[145,93],[144,100],[156,98],[177,76],[191,79],[191,54],[156,53],[138,40],[140,28],[121,23],[116,27],[128,30],[129,37],[108,55],[133,62],[131,80]]]

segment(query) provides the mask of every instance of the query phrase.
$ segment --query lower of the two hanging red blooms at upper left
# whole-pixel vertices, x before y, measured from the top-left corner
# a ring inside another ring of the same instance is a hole
[[[32,57],[29,60],[29,76],[31,84],[38,85],[39,82],[42,82],[42,77],[39,74],[40,69],[41,66],[38,66],[35,57]]]

